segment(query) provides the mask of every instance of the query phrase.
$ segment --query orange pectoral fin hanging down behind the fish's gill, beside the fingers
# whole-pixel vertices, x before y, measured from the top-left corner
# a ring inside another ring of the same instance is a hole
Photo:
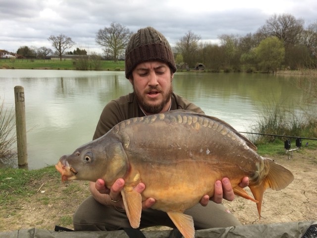
[[[142,212],[141,193],[133,190],[133,188],[130,186],[124,187],[121,190],[121,195],[131,227],[138,228],[140,226]]]

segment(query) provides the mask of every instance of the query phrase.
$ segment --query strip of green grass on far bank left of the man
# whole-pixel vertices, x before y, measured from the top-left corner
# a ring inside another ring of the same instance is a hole
[[[74,60],[0,60],[0,68],[75,70]],[[124,70],[124,61],[101,60],[101,70]]]

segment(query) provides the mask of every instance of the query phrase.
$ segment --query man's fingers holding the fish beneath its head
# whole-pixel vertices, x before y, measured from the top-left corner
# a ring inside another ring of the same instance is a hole
[[[123,179],[117,179],[112,184],[110,189],[108,189],[105,186],[105,181],[103,179],[97,179],[95,187],[100,193],[108,194],[113,205],[115,205],[116,207],[122,207],[124,209],[122,196],[121,196],[121,190],[124,187]],[[143,182],[140,182],[133,189],[139,193],[142,193],[145,189],[145,184]],[[155,203],[155,199],[150,197],[142,202],[142,209],[147,209],[151,207],[154,203]]]

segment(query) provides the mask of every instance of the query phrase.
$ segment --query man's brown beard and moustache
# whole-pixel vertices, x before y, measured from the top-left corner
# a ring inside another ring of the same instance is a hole
[[[163,93],[161,91],[161,89],[159,87],[150,87],[149,90],[157,90],[158,92],[160,92],[163,96],[163,100],[160,104],[158,105],[151,105],[151,104],[148,104],[145,100],[144,100],[144,96],[134,88],[134,84],[133,85],[133,91],[137,97],[137,100],[138,100],[138,103],[140,105],[140,107],[147,113],[150,113],[150,114],[157,114],[159,112],[161,112],[164,108],[164,106],[168,103],[169,99],[171,98],[172,96],[172,93],[173,93],[173,85],[171,84],[170,85],[170,88],[168,91],[166,91],[166,93]]]

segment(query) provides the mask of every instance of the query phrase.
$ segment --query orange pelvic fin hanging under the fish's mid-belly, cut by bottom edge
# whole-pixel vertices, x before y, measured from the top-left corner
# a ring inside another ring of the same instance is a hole
[[[167,215],[172,220],[177,229],[180,231],[180,233],[184,236],[184,238],[195,237],[193,217],[175,211],[167,212]]]

